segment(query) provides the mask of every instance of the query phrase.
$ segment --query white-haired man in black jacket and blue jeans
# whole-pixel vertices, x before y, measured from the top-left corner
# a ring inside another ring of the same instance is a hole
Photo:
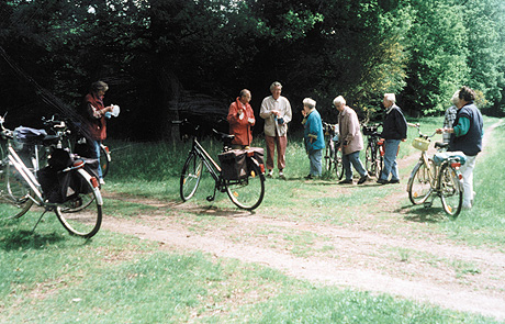
[[[385,139],[384,167],[377,182],[380,185],[400,183],[396,155],[399,153],[400,142],[404,142],[407,138],[407,122],[402,110],[396,105],[396,96],[394,96],[394,93],[385,93],[382,103],[386,109],[381,134]],[[388,180],[390,174],[391,180]]]

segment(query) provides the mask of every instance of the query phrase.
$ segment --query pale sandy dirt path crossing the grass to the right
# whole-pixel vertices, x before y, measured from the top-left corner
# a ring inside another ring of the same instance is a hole
[[[486,136],[492,136],[493,126],[486,130]],[[411,159],[407,157],[402,163],[412,163]],[[404,186],[399,186],[397,191],[385,206],[391,213],[397,213],[399,206],[393,201],[397,201],[395,195],[405,194]],[[130,200],[113,193],[104,195]],[[134,221],[105,216],[103,228],[159,242],[160,249],[205,252],[215,257],[261,264],[322,284],[391,293],[505,320],[503,252],[458,245],[442,236],[426,237],[415,230],[403,235],[383,234],[370,224],[294,222],[262,214],[261,209],[250,214],[191,203],[131,200],[157,210]],[[195,231],[194,223],[178,217],[188,209],[201,215],[221,213],[226,222]],[[172,216],[166,216],[168,212]],[[407,222],[404,217],[395,221]],[[290,242],[282,239],[285,235],[311,237],[310,248],[305,254],[294,253]]]

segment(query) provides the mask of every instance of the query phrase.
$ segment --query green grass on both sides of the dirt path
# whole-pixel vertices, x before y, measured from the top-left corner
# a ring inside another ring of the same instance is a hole
[[[440,119],[420,122],[426,133],[441,124]],[[494,122],[485,120],[486,125]],[[415,135],[412,132],[409,141]],[[302,180],[308,160],[296,134],[291,136],[287,152],[289,180],[269,180],[259,210],[292,222],[322,226],[366,223],[379,233],[430,239],[438,236],[505,250],[505,205],[497,203],[505,181],[505,166],[497,163],[503,160],[504,136],[502,125],[495,130],[486,155],[478,158],[475,206],[456,221],[434,216],[441,214],[436,208],[412,206],[406,193],[393,205],[384,205],[382,198],[399,191],[394,186],[379,190],[377,186],[338,186],[332,178]],[[409,141],[401,145],[401,157],[415,154]],[[108,144],[113,154],[108,191],[179,203],[178,175],[190,148],[188,143]],[[265,147],[261,141],[255,145]],[[211,141],[203,146],[210,147],[212,156],[220,150]],[[408,175],[409,169],[412,166],[401,174]],[[205,200],[213,187],[206,177],[190,206],[236,211],[224,193],[217,193],[213,203]],[[201,235],[234,224],[233,217],[197,214],[191,208],[176,213],[169,206],[115,199],[105,200],[105,214],[125,220],[139,214],[175,216]],[[390,295],[322,287],[255,264],[162,250],[156,243],[105,230],[83,241],[69,236],[52,214],[44,216],[32,234],[38,215],[31,211],[21,220],[1,223],[0,323],[497,323]],[[298,257],[336,254],[324,234],[302,230],[265,225],[234,239],[248,244],[258,236],[271,237],[272,245],[288,246]],[[393,261],[425,259],[408,248],[393,254]],[[482,270],[458,259],[428,259],[433,267],[449,265],[458,278],[478,276]]]

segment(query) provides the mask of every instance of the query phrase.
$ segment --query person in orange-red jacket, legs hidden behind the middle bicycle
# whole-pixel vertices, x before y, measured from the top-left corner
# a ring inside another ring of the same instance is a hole
[[[243,89],[229,105],[227,121],[229,123],[229,134],[235,135],[232,142],[233,149],[248,148],[252,141],[251,127],[255,125],[255,113],[250,108],[250,91]]]

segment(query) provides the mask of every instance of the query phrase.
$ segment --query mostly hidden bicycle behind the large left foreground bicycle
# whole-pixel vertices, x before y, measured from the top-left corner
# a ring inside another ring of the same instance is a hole
[[[69,148],[70,152],[76,152],[76,146],[85,146],[86,149],[89,149],[89,146],[86,146],[86,137],[79,132],[78,127],[67,120],[63,119],[59,115],[52,115],[50,119],[42,119],[44,125],[46,126],[47,133],[53,135],[61,136],[61,147]],[[82,154],[77,149],[79,155],[90,156],[91,153]],[[112,161],[112,156],[109,147],[103,143],[100,143],[100,159],[99,164],[102,168],[102,177],[109,174],[110,164]]]

